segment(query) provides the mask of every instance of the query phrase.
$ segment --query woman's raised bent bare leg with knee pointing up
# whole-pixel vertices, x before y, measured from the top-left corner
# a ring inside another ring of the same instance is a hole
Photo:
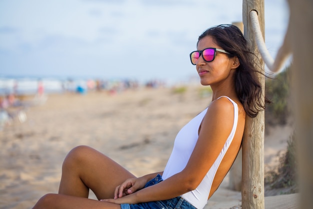
[[[133,174],[97,150],[78,146],[68,153],[63,162],[59,193],[75,195],[70,192],[75,192],[72,190],[77,185],[77,189],[90,188],[98,199],[113,198],[115,187],[133,177]]]

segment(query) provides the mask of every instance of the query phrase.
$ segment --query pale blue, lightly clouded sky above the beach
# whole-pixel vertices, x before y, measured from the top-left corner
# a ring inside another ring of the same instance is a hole
[[[274,58],[285,0],[265,0]],[[198,36],[242,22],[242,0],[0,0],[0,76],[183,80]]]

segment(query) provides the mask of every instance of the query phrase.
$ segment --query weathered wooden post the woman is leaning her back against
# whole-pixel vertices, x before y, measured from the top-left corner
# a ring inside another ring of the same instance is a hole
[[[253,38],[253,31],[249,18],[249,12],[255,10],[262,35],[264,37],[264,1],[243,0],[242,21],[244,25],[244,37],[250,42],[251,51],[260,55]],[[258,62],[256,60],[256,62]],[[261,63],[264,72],[264,64]],[[265,79],[258,75],[264,92]],[[243,209],[264,209],[264,111],[259,112],[255,118],[246,117],[242,140],[242,188]]]

